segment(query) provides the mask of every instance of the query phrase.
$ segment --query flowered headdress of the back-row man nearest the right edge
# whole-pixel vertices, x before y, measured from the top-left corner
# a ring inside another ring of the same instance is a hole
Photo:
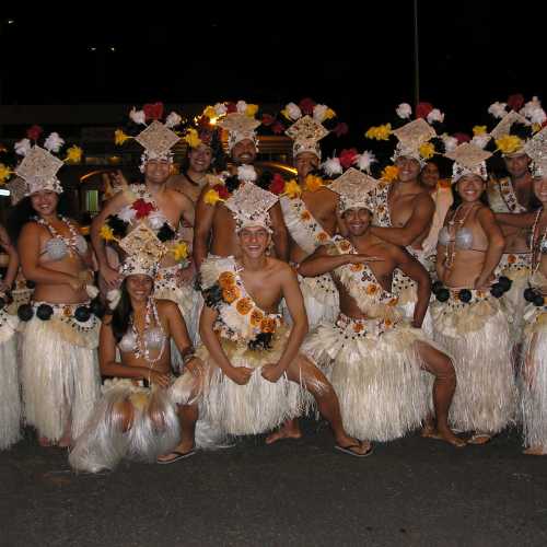
[[[492,103],[488,113],[500,120],[490,135],[505,158],[526,153],[526,142],[547,125],[547,115],[537,97],[524,103],[521,94],[511,95],[507,103]]]

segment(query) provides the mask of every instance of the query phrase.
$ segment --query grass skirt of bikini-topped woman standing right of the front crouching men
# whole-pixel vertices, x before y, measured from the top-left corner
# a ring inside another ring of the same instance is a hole
[[[457,386],[450,422],[462,431],[494,434],[514,420],[516,386],[512,338],[503,301],[469,290],[472,301],[450,290],[431,305],[434,340],[454,356]]]

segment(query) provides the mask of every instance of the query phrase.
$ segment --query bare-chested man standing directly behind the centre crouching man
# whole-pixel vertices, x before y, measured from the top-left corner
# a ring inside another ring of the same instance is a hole
[[[258,179],[253,164],[257,155],[255,129],[260,123],[245,114],[232,113],[220,125],[229,131],[229,149],[234,165],[219,177],[216,185],[207,185],[198,199],[194,230],[194,259],[198,270],[208,255],[225,257],[238,254],[235,220],[222,201],[233,193],[244,193],[246,185],[254,185]],[[269,216],[276,256],[286,260],[287,228],[279,203],[271,208]]]

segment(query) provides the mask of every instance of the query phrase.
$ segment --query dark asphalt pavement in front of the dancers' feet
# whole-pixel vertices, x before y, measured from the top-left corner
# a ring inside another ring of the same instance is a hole
[[[543,546],[547,456],[519,431],[454,449],[409,435],[358,459],[329,430],[172,465],[75,475],[25,439],[0,453],[0,546]]]

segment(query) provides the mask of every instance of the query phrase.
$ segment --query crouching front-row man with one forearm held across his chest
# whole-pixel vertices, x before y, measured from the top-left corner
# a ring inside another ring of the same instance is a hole
[[[330,185],[340,194],[348,238],[336,236],[330,245],[318,247],[299,271],[302,276],[331,272],[340,294],[340,315],[335,324],[319,326],[303,350],[330,377],[350,434],[389,441],[418,428],[429,417],[426,369],[435,377],[437,428],[431,426],[431,435],[463,446],[465,442],[447,424],[456,386],[454,366],[419,328],[429,303],[429,276],[408,252],[371,233],[369,193],[374,186],[374,179],[357,170]],[[412,325],[401,318],[392,293],[395,268],[417,283]]]

